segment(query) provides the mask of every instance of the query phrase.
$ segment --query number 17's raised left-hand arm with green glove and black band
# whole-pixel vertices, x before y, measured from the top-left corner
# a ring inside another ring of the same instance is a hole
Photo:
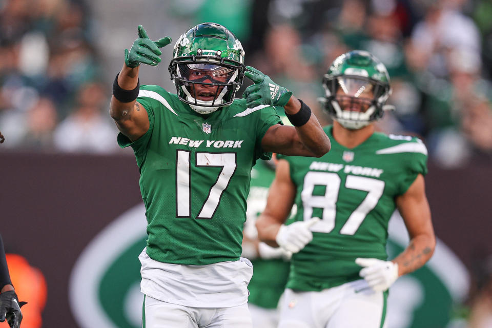
[[[171,38],[152,41],[147,32],[138,26],[138,38],[130,51],[125,49],[125,64],[113,86],[110,115],[122,134],[135,141],[149,130],[149,117],[145,108],[136,101],[138,96],[138,71],[140,63],[157,66],[162,52],[159,48],[168,45]],[[116,93],[115,93],[116,92]]]

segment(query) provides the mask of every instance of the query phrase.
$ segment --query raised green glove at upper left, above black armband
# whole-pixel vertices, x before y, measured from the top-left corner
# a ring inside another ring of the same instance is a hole
[[[171,43],[169,36],[152,41],[144,28],[138,26],[138,38],[132,45],[130,51],[125,49],[125,64],[128,67],[137,67],[140,63],[157,66],[160,63],[162,52],[159,48],[165,47]]]

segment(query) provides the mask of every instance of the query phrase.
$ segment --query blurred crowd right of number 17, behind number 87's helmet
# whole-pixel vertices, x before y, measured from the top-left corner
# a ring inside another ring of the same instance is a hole
[[[379,122],[382,131],[420,136],[430,161],[446,168],[492,163],[490,1],[329,3],[271,2],[272,27],[251,64],[296,94],[311,92],[314,107],[333,59],[370,51],[392,78],[396,111]]]

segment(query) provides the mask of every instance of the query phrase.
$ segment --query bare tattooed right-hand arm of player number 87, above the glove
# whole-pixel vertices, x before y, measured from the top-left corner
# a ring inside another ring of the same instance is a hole
[[[401,276],[422,267],[436,247],[424,177],[421,174],[403,195],[397,197],[396,204],[410,236],[408,247],[392,260],[398,264],[398,275]]]

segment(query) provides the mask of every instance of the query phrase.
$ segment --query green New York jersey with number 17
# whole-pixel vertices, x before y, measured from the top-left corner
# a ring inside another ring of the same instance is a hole
[[[159,86],[140,86],[150,128],[131,142],[147,216],[147,254],[166,263],[204,265],[241,254],[251,168],[269,159],[261,139],[281,120],[273,107],[236,99],[208,115]]]

